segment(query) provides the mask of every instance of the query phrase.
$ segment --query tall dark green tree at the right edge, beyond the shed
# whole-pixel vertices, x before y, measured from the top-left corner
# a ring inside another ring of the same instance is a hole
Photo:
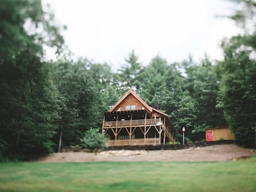
[[[256,61],[255,1],[236,1],[241,8],[230,16],[244,29],[244,34],[223,40],[225,59],[218,63],[221,74],[219,105],[228,125],[245,147],[255,147],[256,131]]]

